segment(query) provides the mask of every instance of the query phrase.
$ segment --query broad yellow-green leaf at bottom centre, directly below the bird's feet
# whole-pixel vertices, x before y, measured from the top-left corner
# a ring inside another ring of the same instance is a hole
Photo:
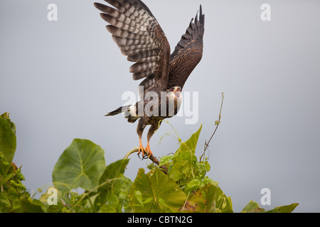
[[[137,192],[141,192],[144,206]],[[176,212],[183,206],[186,194],[161,170],[156,169],[152,175],[146,175],[144,170],[140,169],[132,184],[129,198],[137,213],[163,212],[168,209]]]

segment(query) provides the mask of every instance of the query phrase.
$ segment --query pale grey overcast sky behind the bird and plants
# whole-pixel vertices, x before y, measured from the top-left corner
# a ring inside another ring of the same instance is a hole
[[[10,112],[17,127],[14,162],[26,187],[52,181],[55,162],[74,138],[105,150],[107,164],[138,145],[137,123],[105,118],[137,92],[126,57],[105,29],[90,0],[0,0],[0,114]],[[104,3],[104,1],[98,1]],[[58,6],[58,21],[47,6]],[[240,212],[261,189],[271,206],[300,203],[298,212],[320,211],[320,1],[144,0],[174,50],[199,5],[206,13],[203,60],[185,92],[199,92],[199,121],[171,118],[182,140],[203,131],[197,156],[218,120],[210,144],[210,178]],[[272,21],[260,19],[262,4]],[[178,145],[163,124],[151,140],[159,157]],[[146,145],[146,133],[144,133]],[[149,161],[132,157],[125,175],[134,180]]]

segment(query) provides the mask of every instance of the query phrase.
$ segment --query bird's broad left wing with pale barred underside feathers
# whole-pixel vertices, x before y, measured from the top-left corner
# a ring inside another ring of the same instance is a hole
[[[144,84],[167,83],[170,45],[148,7],[140,0],[105,0],[110,6],[95,3],[102,18],[110,23],[107,30],[130,62],[133,79],[146,78]],[[142,92],[142,94],[144,94]]]

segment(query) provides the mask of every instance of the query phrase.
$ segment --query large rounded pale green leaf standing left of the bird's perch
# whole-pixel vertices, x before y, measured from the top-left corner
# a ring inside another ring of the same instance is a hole
[[[53,184],[64,195],[81,187],[95,189],[105,170],[104,150],[90,140],[75,139],[53,169]]]

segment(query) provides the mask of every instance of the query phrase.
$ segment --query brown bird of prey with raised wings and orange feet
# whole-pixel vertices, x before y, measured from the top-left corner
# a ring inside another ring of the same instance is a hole
[[[141,0],[105,1],[113,7],[99,3],[95,3],[95,7],[102,11],[100,16],[109,23],[107,31],[112,34],[122,54],[130,62],[135,62],[129,70],[133,79],[144,79],[139,86],[140,101],[122,106],[106,116],[124,113],[129,123],[139,119],[139,154],[150,157],[153,155],[150,149],[152,135],[165,118],[178,113],[183,86],[201,61],[205,16],[200,6],[200,14],[191,20],[171,54],[164,31]],[[142,133],[146,126],[151,127],[144,149]]]

